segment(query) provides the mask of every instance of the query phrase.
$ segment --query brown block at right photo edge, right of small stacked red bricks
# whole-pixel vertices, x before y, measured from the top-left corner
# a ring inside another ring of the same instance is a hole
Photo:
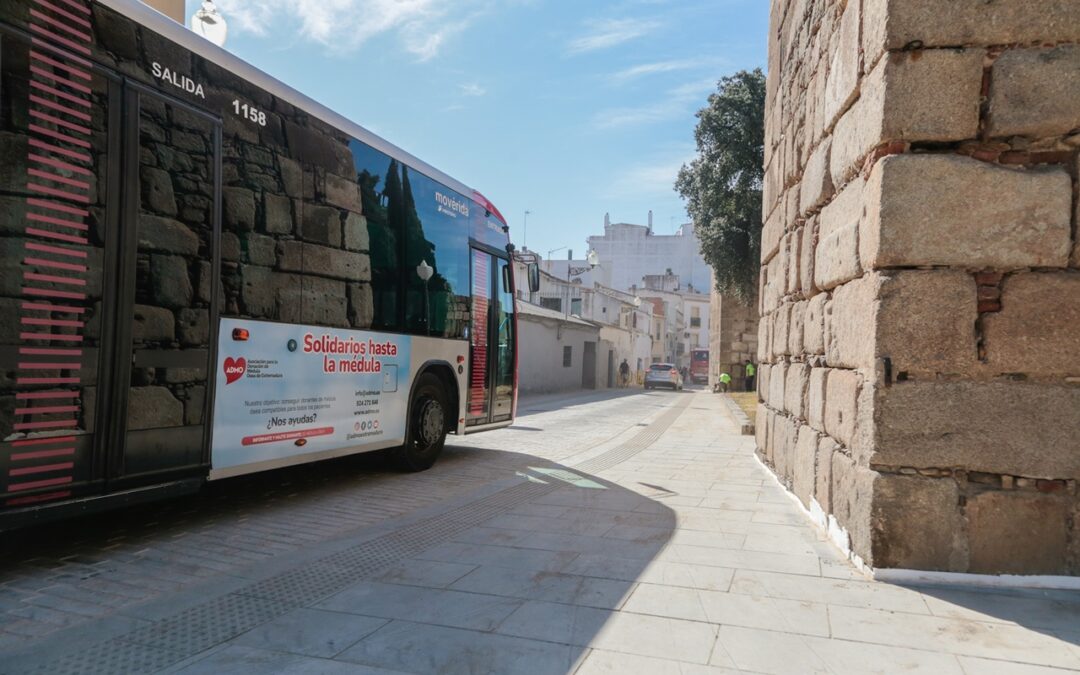
[[[983,318],[983,343],[994,374],[1080,376],[1080,273],[1007,276],[1001,311]]]

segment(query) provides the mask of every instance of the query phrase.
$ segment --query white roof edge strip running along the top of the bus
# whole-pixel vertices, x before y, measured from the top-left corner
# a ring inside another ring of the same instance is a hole
[[[457,190],[462,195],[468,197],[481,206],[484,206],[492,214],[499,215],[498,211],[494,208],[494,205],[486,198],[483,198],[483,195],[477,198],[478,192],[468,187],[460,180],[451,178],[449,175],[438,171],[434,166],[421,161],[405,150],[402,150],[392,143],[376,136],[360,124],[356,124],[348,118],[338,114],[326,106],[301,94],[297,90],[268,75],[267,72],[259,70],[235,54],[217,46],[210,40],[201,38],[191,30],[188,30],[181,24],[177,24],[161,12],[144,4],[139,0],[97,0],[97,2],[120,12],[121,14],[138,22],[139,24],[143,24],[158,33],[161,33],[165,38],[168,38],[185,49],[231,70],[252,84],[255,84],[266,90],[268,93],[319,117],[322,121],[333,124],[339,130],[350,134],[356,140],[366,143],[376,150],[384,152],[397,161],[405,163],[410,168],[415,168],[423,174],[427,174],[430,178],[442,183],[453,190]],[[483,201],[481,201],[481,199],[483,199]],[[499,215],[499,219],[505,224],[505,219],[503,219],[501,215]]]

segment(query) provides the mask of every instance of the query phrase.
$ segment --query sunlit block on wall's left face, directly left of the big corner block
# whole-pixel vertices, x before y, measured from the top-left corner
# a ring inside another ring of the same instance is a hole
[[[848,184],[818,220],[814,284],[829,289],[862,274],[859,264],[859,226],[863,219],[863,181]]]

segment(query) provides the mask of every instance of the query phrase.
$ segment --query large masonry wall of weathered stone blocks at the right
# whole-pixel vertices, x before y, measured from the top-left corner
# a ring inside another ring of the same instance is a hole
[[[773,0],[757,446],[877,568],[1080,573],[1080,2]]]

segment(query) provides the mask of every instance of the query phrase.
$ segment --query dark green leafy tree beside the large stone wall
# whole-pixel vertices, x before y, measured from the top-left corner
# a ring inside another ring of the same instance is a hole
[[[750,301],[757,289],[765,176],[765,75],[724,78],[698,111],[698,157],[684,164],[675,190],[687,201],[701,255],[716,289]]]

